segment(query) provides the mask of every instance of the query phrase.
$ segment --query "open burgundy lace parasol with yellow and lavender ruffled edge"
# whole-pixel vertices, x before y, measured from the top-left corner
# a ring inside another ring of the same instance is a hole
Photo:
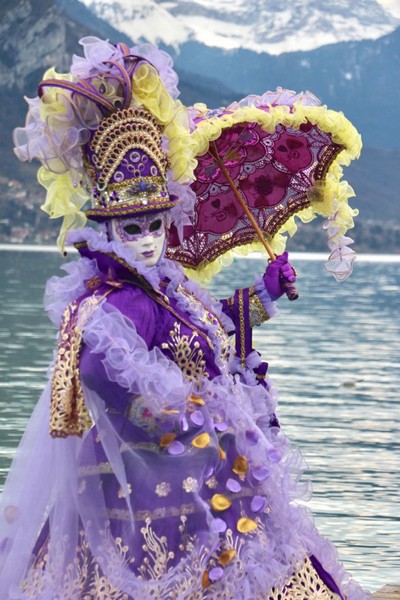
[[[279,88],[227,108],[195,105],[193,118],[194,214],[183,239],[171,231],[168,255],[208,282],[233,252],[264,250],[274,259],[296,218],[322,215],[328,268],[338,280],[348,276],[355,254],[345,233],[357,211],[341,165],[359,156],[361,139],[344,115],[309,92]]]

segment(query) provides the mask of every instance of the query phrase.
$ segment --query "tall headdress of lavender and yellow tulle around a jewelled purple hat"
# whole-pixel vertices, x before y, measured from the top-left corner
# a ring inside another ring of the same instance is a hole
[[[45,73],[39,95],[27,99],[26,126],[14,131],[18,158],[42,163],[41,208],[63,218],[59,247],[87,218],[149,210],[171,209],[182,232],[193,207],[195,161],[172,59],[150,44],[80,43],[84,57],[74,56],[67,74]]]

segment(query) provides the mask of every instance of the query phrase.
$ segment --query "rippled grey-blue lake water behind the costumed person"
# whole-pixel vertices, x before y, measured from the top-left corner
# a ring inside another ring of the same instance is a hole
[[[338,284],[319,257],[291,258],[300,298],[281,299],[255,343],[280,393],[281,425],[309,464],[316,523],[374,591],[400,583],[400,263],[360,257]],[[42,296],[62,258],[0,247],[0,259],[2,485],[55,347]],[[211,289],[226,297],[263,270],[238,260]]]

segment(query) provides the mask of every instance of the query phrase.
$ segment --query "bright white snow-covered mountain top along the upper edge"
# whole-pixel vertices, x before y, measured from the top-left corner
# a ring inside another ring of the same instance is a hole
[[[393,1],[393,0],[392,0]],[[278,55],[363,39],[400,24],[388,0],[81,0],[135,42],[188,41]],[[385,8],[386,7],[386,8]]]

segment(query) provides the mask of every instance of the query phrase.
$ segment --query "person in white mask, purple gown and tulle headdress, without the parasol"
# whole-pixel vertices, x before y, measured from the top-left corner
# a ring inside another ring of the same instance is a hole
[[[366,598],[296,503],[302,459],[251,347],[287,254],[221,302],[166,258],[195,165],[171,60],[82,43],[15,136],[80,258],[46,288],[58,349],[2,496],[0,597]]]

